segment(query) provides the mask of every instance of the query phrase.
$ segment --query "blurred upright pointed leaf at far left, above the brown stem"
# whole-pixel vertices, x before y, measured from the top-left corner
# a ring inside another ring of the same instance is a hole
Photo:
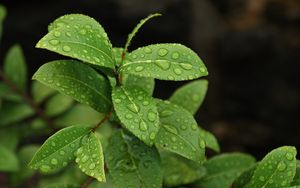
[[[25,91],[27,87],[27,67],[21,46],[12,46],[4,60],[4,73],[18,89]]]

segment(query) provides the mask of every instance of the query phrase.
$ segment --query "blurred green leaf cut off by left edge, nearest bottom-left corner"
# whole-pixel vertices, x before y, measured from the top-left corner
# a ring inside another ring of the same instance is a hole
[[[0,146],[0,172],[15,172],[19,169],[18,158],[13,151]]]

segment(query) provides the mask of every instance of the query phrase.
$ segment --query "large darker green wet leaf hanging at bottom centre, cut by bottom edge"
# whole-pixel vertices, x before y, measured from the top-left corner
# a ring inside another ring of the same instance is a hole
[[[106,154],[116,187],[162,187],[160,160],[154,147],[119,131],[112,136]]]

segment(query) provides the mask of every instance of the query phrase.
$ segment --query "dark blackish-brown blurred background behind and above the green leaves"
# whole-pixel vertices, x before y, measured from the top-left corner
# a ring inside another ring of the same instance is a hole
[[[299,0],[0,0],[8,9],[0,59],[20,43],[30,75],[61,58],[35,49],[47,25],[67,13],[98,20],[114,46],[150,13],[131,49],[176,42],[191,47],[208,67],[207,98],[197,113],[223,151],[262,157],[281,145],[300,148]],[[157,81],[155,96],[168,98],[184,82]]]

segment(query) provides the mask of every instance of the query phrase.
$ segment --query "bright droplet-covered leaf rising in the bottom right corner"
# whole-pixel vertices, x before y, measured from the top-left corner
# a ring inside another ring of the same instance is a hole
[[[272,150],[259,162],[245,188],[289,186],[296,173],[296,153],[291,146]]]

